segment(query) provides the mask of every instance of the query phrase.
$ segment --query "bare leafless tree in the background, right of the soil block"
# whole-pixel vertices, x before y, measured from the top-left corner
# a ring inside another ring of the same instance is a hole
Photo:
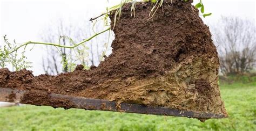
[[[256,27],[250,20],[222,17],[214,28],[220,71],[224,75],[244,74],[255,67]]]

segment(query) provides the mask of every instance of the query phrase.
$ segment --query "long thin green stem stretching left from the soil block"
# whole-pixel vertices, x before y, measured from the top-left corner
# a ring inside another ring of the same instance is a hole
[[[45,43],[45,42],[28,41],[28,42],[23,43],[21,46],[15,48],[14,50],[12,50],[12,52],[10,52],[10,53],[14,53],[14,52],[16,52],[19,48],[21,48],[21,47],[23,47],[23,46],[27,46],[27,45],[29,45],[29,44],[49,45],[49,46],[56,46],[56,47],[62,47],[62,48],[70,48],[70,49],[72,49],[72,48],[75,48],[75,47],[77,47],[77,46],[79,46],[79,45],[81,45],[81,44],[83,44],[83,43],[85,43],[85,42],[91,40],[92,38],[97,37],[97,35],[102,34],[102,33],[106,32],[106,31],[109,31],[109,30],[110,30],[110,27],[107,28],[106,30],[102,31],[102,32],[99,32],[99,33],[96,33],[95,35],[92,35],[92,37],[90,37],[90,38],[88,38],[88,39],[86,39],[86,40],[84,40],[84,41],[81,41],[81,42],[79,42],[79,43],[77,43],[77,44],[75,44],[75,45],[73,45],[73,46],[64,46],[64,45],[59,45],[59,44],[57,44],[57,43]]]

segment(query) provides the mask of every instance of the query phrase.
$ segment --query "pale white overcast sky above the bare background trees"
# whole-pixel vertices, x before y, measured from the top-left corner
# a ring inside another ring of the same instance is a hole
[[[195,3],[198,2],[197,0]],[[0,34],[7,34],[8,38],[19,42],[40,41],[40,32],[45,26],[59,18],[70,23],[82,23],[82,20],[98,16],[107,6],[119,3],[118,0],[0,0]],[[238,16],[255,21],[255,0],[204,0],[206,12],[212,16],[203,18],[206,24],[213,25],[220,16]],[[50,25],[54,26],[54,25]],[[2,38],[1,38],[2,44]],[[36,46],[27,52],[28,59],[33,62],[32,70],[35,75],[43,74],[42,46]]]

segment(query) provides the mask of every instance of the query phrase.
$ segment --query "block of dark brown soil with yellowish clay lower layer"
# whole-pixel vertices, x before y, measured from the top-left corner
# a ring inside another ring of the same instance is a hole
[[[0,69],[0,88],[116,100],[179,110],[227,114],[218,86],[219,60],[211,33],[190,2],[166,2],[152,19],[151,3],[126,4],[114,27],[112,54],[98,67],[57,76]],[[113,20],[114,14],[111,14]],[[113,24],[112,24],[113,27]]]

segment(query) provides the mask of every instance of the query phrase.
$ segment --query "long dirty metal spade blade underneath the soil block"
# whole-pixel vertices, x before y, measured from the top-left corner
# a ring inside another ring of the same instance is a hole
[[[11,103],[23,103],[23,98],[29,93],[33,93],[28,90],[16,90],[10,88],[0,88],[0,101]],[[32,105],[44,105],[53,107],[64,108],[82,108],[85,110],[102,110],[102,111],[114,111],[114,112],[128,112],[128,113],[141,113],[141,114],[155,114],[155,115],[171,115],[176,117],[188,117],[198,119],[210,119],[210,118],[226,118],[224,114],[212,114],[212,113],[198,113],[192,111],[180,111],[177,109],[167,107],[151,107],[139,104],[121,103],[117,104],[116,101],[91,99],[83,97],[66,96],[62,94],[48,94],[49,99],[45,99],[45,103],[26,102],[23,104]],[[15,97],[10,97],[15,96]],[[69,103],[69,106],[63,104],[53,103],[51,101],[61,100],[62,103]]]

